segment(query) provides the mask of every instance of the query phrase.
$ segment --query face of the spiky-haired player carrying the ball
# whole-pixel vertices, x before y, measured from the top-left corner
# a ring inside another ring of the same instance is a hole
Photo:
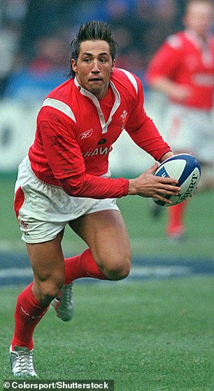
[[[106,41],[84,41],[80,44],[77,61],[71,59],[78,84],[102,99],[108,93],[114,62]]]

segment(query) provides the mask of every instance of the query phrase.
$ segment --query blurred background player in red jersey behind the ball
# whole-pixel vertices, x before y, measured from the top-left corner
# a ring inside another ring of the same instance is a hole
[[[191,0],[183,18],[183,32],[171,35],[148,66],[148,84],[169,98],[162,120],[166,140],[176,153],[194,154],[201,164],[199,189],[213,187],[213,1]],[[185,233],[187,202],[168,208],[166,234]],[[157,208],[159,208],[157,206]]]

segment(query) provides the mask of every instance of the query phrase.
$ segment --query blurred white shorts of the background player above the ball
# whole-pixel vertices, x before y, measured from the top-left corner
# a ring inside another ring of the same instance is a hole
[[[201,163],[213,164],[213,113],[169,104],[166,140],[174,152],[192,153]]]

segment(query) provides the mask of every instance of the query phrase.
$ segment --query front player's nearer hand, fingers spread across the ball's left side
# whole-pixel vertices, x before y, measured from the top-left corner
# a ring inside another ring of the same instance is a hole
[[[178,185],[178,180],[153,175],[157,167],[158,164],[155,163],[154,166],[139,175],[138,178],[130,179],[128,194],[157,198],[160,201],[171,204],[171,201],[164,196],[178,195],[180,192],[180,187],[176,186]]]

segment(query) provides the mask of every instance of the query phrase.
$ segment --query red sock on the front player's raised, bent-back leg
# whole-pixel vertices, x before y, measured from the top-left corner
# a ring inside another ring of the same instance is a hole
[[[65,284],[74,279],[83,278],[83,277],[92,277],[97,279],[108,279],[102,272],[99,270],[97,263],[95,263],[92,253],[89,248],[85,250],[79,256],[74,256],[72,258],[66,258],[65,262]]]

